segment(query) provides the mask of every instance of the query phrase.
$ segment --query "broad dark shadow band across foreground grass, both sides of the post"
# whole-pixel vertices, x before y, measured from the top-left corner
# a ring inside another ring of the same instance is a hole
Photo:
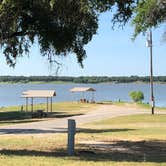
[[[100,146],[100,147],[99,147]],[[108,149],[110,147],[110,149]],[[95,162],[166,162],[165,141],[116,141],[108,144],[78,145],[75,157],[72,160]],[[90,150],[89,150],[90,149]],[[37,150],[10,150],[1,149],[1,155],[39,156],[39,157],[67,157],[65,149],[54,152]],[[67,158],[66,158],[67,159]]]

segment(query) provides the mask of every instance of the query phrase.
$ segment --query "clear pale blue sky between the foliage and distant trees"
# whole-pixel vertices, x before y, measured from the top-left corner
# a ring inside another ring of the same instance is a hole
[[[166,75],[166,41],[162,39],[165,30],[162,25],[153,29],[153,73]],[[58,58],[62,63],[58,76],[148,76],[150,73],[149,48],[146,36],[139,35],[131,40],[134,28],[128,23],[123,29],[111,28],[111,14],[102,14],[99,29],[92,41],[85,46],[87,58],[82,69],[74,54]],[[40,55],[37,45],[31,49],[29,56],[18,58],[15,68],[6,64],[1,53],[0,75],[33,76],[55,75],[56,67],[50,66],[46,57]]]

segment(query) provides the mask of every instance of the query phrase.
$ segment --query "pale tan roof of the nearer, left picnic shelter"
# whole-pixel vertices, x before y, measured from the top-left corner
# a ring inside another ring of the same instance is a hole
[[[22,97],[53,97],[55,90],[28,90],[22,93]]]

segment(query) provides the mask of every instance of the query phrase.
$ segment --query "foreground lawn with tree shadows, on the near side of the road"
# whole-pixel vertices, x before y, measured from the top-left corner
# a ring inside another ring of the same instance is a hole
[[[165,166],[166,115],[131,115],[81,126],[76,155],[66,133],[0,136],[2,166]]]

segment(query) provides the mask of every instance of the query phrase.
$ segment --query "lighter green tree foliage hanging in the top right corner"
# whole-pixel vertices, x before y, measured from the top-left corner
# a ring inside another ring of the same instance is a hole
[[[149,28],[157,27],[166,20],[166,0],[140,0],[134,9],[134,38]]]

